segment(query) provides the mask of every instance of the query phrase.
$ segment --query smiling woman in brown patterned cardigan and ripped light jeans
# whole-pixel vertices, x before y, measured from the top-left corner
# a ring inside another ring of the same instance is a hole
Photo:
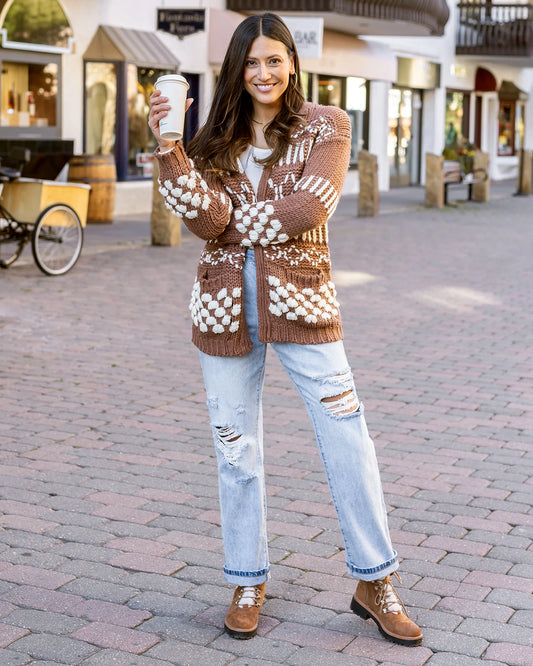
[[[237,586],[226,631],[255,635],[270,569],[261,394],[271,343],[315,428],[359,579],[351,608],[389,640],[419,645],[390,581],[398,558],[330,279],[327,220],[348,167],[349,119],[305,102],[294,41],[268,13],[236,29],[187,153],[159,135],[167,101],[155,92],[149,117],[160,192],[207,241],[190,309],[218,460],[224,575]]]

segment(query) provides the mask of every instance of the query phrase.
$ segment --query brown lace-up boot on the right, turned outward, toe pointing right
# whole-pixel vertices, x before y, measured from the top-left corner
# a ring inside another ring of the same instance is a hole
[[[394,575],[401,584],[398,574]],[[422,643],[420,627],[409,619],[390,576],[379,580],[360,580],[352,599],[351,609],[363,620],[372,618],[381,634],[389,641],[410,646]]]

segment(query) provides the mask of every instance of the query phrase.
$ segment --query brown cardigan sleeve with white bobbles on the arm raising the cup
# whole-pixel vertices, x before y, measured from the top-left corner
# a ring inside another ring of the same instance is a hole
[[[233,210],[229,195],[209,187],[195,170],[194,162],[178,141],[169,152],[154,153],[159,162],[159,192],[165,205],[183,219],[193,234],[204,240],[214,240],[226,228]]]

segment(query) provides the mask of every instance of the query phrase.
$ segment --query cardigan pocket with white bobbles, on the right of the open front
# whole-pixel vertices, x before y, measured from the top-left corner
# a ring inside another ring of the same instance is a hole
[[[266,278],[272,315],[306,328],[340,324],[335,285],[324,271],[302,273],[281,266],[274,271],[277,275]]]

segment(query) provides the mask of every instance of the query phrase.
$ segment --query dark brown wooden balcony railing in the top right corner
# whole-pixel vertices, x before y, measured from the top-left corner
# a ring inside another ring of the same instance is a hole
[[[458,4],[457,55],[533,56],[533,4],[471,0]]]

